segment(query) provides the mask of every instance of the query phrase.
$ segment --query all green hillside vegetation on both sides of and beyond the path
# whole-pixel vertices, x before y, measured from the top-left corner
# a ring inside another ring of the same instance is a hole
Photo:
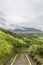
[[[6,65],[12,56],[25,49],[32,59],[40,65],[43,63],[43,37],[12,33],[0,28],[0,65]]]

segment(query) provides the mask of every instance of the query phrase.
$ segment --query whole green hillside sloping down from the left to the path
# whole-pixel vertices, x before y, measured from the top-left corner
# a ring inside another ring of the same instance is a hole
[[[17,35],[17,37],[14,36],[10,32],[0,29],[0,65],[6,65],[11,56],[21,52],[22,47],[25,45]]]

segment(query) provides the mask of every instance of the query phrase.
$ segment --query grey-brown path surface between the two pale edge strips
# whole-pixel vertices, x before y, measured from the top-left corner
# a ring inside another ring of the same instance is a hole
[[[21,54],[13,65],[28,65],[25,54]]]

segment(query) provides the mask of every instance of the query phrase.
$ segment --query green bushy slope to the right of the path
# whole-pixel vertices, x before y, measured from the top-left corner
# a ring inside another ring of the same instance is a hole
[[[43,63],[43,37],[27,37],[24,41],[27,43],[26,46],[30,57],[41,65]]]

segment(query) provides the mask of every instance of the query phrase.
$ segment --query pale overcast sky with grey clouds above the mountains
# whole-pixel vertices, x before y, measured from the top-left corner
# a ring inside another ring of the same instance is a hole
[[[43,0],[0,0],[0,27],[43,30]]]

